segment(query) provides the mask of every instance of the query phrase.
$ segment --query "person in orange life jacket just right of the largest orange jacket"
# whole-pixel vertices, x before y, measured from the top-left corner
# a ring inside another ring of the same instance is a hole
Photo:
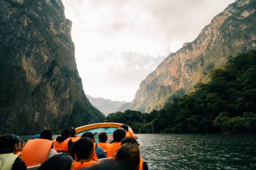
[[[69,138],[69,130],[65,129],[61,132],[61,136],[58,136],[55,140],[53,140],[53,148],[58,153],[68,153],[73,142],[71,138]]]

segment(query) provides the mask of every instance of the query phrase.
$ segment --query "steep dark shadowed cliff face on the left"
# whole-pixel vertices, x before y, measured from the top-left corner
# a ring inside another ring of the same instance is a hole
[[[82,87],[60,0],[0,1],[0,132],[59,132],[100,122]],[[80,116],[86,120],[73,122]]]

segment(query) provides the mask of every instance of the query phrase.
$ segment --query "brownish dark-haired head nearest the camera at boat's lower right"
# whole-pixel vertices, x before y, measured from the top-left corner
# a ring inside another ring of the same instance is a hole
[[[117,152],[116,160],[130,167],[129,169],[138,169],[140,160],[139,146],[133,143],[121,145]]]

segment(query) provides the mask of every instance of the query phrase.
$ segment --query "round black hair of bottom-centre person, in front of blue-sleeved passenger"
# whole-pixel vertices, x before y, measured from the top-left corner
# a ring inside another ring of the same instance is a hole
[[[70,155],[77,157],[77,159],[88,159],[94,150],[94,143],[91,138],[80,138],[71,147]]]

